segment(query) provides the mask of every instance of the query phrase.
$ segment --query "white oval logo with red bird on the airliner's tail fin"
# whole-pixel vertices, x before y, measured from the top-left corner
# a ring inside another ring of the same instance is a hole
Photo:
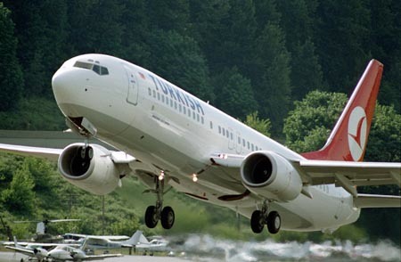
[[[367,120],[364,109],[357,106],[348,119],[348,146],[352,159],[359,161],[366,145]]]

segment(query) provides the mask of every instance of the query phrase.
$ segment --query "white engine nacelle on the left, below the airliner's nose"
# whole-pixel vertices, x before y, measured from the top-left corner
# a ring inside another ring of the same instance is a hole
[[[84,143],[72,143],[62,152],[58,168],[71,184],[94,194],[104,195],[119,185],[119,169],[110,159],[110,151],[98,144],[90,144],[93,156],[83,158]],[[88,151],[89,149],[86,149]]]

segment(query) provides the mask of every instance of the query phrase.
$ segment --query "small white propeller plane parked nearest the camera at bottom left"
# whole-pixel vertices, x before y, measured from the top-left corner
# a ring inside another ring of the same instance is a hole
[[[86,250],[86,241],[83,242],[79,249],[73,248],[69,245],[62,245],[48,251],[46,258],[51,259],[51,261],[85,261],[117,258],[122,256],[121,254],[86,255],[84,250]]]

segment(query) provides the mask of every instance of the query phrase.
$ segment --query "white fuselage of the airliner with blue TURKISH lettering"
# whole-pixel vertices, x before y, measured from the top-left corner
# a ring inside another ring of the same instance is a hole
[[[76,61],[98,61],[109,74],[74,67]],[[245,195],[240,170],[213,166],[210,156],[274,151],[288,160],[303,159],[163,78],[115,57],[86,54],[66,61],[54,74],[53,92],[64,115],[88,119],[97,138],[141,161],[132,168],[144,184],[153,183],[147,173],[163,170],[177,191],[245,217],[263,198]],[[197,182],[192,174],[198,174]],[[270,204],[269,209],[281,214],[282,229],[331,230],[359,217],[360,210],[342,188],[327,184],[311,186],[309,192],[313,198],[301,193],[294,201]]]

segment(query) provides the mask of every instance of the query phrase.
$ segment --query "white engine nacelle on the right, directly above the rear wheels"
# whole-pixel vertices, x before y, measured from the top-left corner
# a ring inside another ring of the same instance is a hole
[[[302,190],[299,173],[273,151],[250,153],[241,164],[242,184],[269,200],[292,201]]]

